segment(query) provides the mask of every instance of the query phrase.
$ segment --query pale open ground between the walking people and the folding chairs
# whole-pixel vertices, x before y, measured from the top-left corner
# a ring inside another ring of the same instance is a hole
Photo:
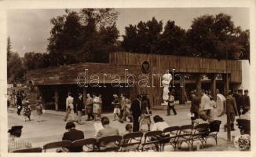
[[[153,110],[153,115],[161,115],[163,119],[170,126],[182,126],[190,124],[190,117],[188,116],[189,106],[182,105],[177,106],[177,115],[166,116],[166,111],[164,110]],[[112,113],[104,114],[110,119],[113,119]],[[43,115],[43,122],[37,122],[35,111],[32,111],[31,121],[25,122],[23,115],[16,115],[16,111],[13,108],[9,108],[8,111],[8,125],[9,128],[14,125],[23,125],[22,138],[27,141],[31,141],[33,147],[42,147],[43,144],[52,141],[60,141],[63,133],[66,131],[64,129],[65,123],[64,112],[57,111],[46,111]],[[83,120],[86,119],[85,116],[82,117]],[[226,141],[227,133],[224,132],[223,126],[226,122],[225,116],[217,117],[222,121],[220,133],[218,133],[218,146],[215,145],[214,140],[207,141],[207,148],[200,149],[200,151],[235,151],[236,148],[233,147],[233,144],[230,144]],[[99,122],[99,121],[97,121]],[[111,126],[119,128],[120,133],[124,133],[126,123],[120,123],[118,121],[111,121]],[[85,137],[93,137],[95,130],[93,127],[93,121],[87,122],[84,121],[83,125],[76,125],[78,130],[82,130],[85,133]],[[232,131],[232,136],[239,135],[239,129],[236,126],[236,131]],[[172,148],[166,148],[166,151],[171,151]],[[182,145],[181,151],[186,151],[187,146]]]

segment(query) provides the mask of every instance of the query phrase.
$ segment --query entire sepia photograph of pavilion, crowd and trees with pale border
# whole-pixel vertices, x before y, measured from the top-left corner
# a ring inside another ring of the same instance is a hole
[[[7,7],[1,152],[252,152],[254,8],[149,6]]]

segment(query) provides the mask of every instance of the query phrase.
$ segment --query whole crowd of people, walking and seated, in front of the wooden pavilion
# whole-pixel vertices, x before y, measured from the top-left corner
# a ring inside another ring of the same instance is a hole
[[[218,94],[217,90],[217,94]],[[196,90],[191,91],[191,107],[190,115],[192,120],[192,125],[202,119],[203,121],[213,122],[216,115],[214,110],[217,108],[217,104],[214,97],[210,95],[209,92],[202,89],[200,94],[196,93]],[[169,99],[167,106],[167,115],[170,115],[170,109],[173,110],[174,115],[177,115],[177,111],[174,108],[174,94],[169,93]],[[27,97],[24,100],[20,99],[19,94],[16,97],[17,102],[17,114],[20,115],[20,108],[24,107],[25,120],[31,120],[31,108]],[[66,133],[64,133],[63,141],[76,141],[83,139],[86,136],[81,130],[75,129],[75,122],[77,124],[82,124],[82,115],[87,115],[86,121],[97,121],[101,120],[102,128],[97,130],[95,137],[105,137],[111,135],[120,135],[124,133],[119,133],[119,128],[112,127],[110,125],[111,120],[103,116],[101,113],[102,99],[101,94],[88,93],[86,95],[86,104],[83,104],[82,93],[79,93],[79,97],[76,100],[74,107],[74,98],[71,97],[71,93],[68,93],[66,98],[66,115],[64,116],[64,121],[66,123]],[[21,104],[20,104],[21,103]],[[113,94],[113,121],[118,120],[119,122],[127,122],[125,126],[125,133],[132,133],[142,130],[143,125],[148,126],[148,131],[153,130],[164,130],[169,127],[169,124],[163,120],[160,115],[153,116],[152,122],[152,109],[150,105],[150,100],[148,95],[137,95],[136,99],[130,100],[129,96],[126,94],[121,94],[120,97],[117,94]],[[231,130],[234,129],[235,116],[240,115],[240,119],[250,120],[250,97],[248,95],[248,90],[244,90],[244,95],[238,93],[235,90],[234,93],[229,91],[229,94],[225,97],[224,113],[230,114]],[[19,107],[20,106],[20,107]],[[76,108],[77,113],[75,114],[74,108]],[[43,113],[42,100],[38,97],[36,104],[36,112],[38,113],[38,122],[41,119]],[[133,123],[131,123],[133,122]],[[21,148],[31,148],[31,143],[27,141],[20,141],[21,129],[23,126],[13,126],[9,130],[9,152]],[[226,129],[227,125],[225,125]],[[107,144],[106,144],[107,145]],[[111,145],[111,144],[110,144]],[[108,145],[109,146],[109,145]],[[72,148],[69,150],[71,152],[81,152],[82,148]]]

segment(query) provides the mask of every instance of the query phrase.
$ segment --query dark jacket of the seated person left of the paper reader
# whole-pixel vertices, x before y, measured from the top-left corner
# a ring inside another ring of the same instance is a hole
[[[83,139],[83,132],[80,130],[71,129],[70,131],[64,133],[62,141],[76,141]],[[70,148],[70,152],[82,152],[82,147]]]

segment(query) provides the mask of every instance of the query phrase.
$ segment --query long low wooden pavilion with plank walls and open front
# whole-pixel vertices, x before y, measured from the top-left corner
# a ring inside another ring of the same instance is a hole
[[[178,93],[181,104],[185,102],[190,89],[196,89],[197,93],[200,89],[210,89],[211,94],[215,96],[217,88],[225,93],[227,89],[232,89],[233,86],[242,82],[242,65],[238,60],[127,52],[109,53],[109,63],[70,64],[27,71],[26,80],[27,86],[31,89],[31,97],[40,94],[44,104],[54,110],[64,110],[68,91],[73,94],[73,97],[77,97],[78,93],[83,93],[84,101],[86,93],[101,93],[105,111],[112,109],[110,103],[114,93],[126,93],[131,99],[137,94],[148,94],[152,108],[154,108],[163,103],[161,76],[167,70],[174,79],[170,89]],[[85,86],[78,86],[78,79],[81,79],[79,76],[85,74],[87,76],[98,75],[97,83],[101,87],[88,86],[90,83],[88,78],[87,82],[83,83]],[[112,86],[116,78],[106,74],[119,75],[121,77],[119,86],[123,87]],[[132,84],[132,78],[127,79],[130,74],[135,75],[137,79],[133,87],[125,87]],[[141,74],[148,75],[148,86],[138,86]],[[186,79],[185,75],[192,75],[193,78]],[[202,79],[202,75],[207,75],[208,79]],[[218,80],[217,75],[221,75],[222,79]]]

